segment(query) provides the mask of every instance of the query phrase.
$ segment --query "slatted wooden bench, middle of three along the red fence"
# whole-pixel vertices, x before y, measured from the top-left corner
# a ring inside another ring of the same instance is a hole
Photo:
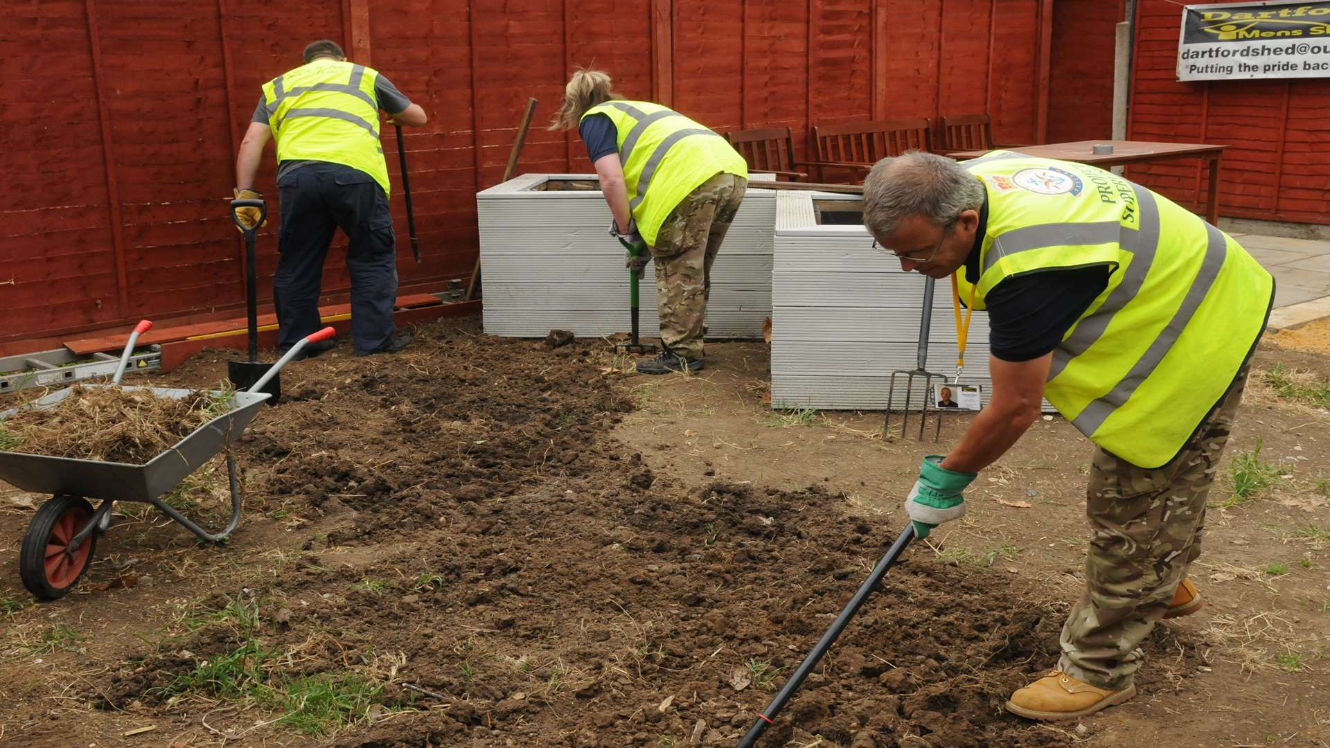
[[[821,181],[826,169],[847,170],[862,181],[882,158],[907,150],[932,150],[932,121],[870,120],[842,125],[813,125],[813,144]]]

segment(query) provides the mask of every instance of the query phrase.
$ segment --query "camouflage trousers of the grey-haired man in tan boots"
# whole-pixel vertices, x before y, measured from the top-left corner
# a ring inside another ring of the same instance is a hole
[[[1205,504],[1248,369],[1176,458],[1145,470],[1100,449],[1089,474],[1085,594],[1063,626],[1057,669],[1100,688],[1132,684],[1140,644],[1201,555]]]

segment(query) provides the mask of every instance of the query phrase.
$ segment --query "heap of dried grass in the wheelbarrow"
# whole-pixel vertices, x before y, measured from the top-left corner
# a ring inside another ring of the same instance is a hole
[[[55,407],[0,421],[0,449],[141,465],[229,409],[229,393],[200,390],[176,399],[148,389],[74,385]]]

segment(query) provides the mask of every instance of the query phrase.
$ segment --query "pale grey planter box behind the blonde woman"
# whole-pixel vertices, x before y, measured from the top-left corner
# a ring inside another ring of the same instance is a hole
[[[754,174],[754,178],[762,176]],[[626,333],[628,270],[595,174],[523,174],[476,194],[484,330],[543,337]],[[759,338],[771,315],[775,192],[750,189],[712,268],[708,338]],[[660,333],[656,280],[641,282],[642,337]]]

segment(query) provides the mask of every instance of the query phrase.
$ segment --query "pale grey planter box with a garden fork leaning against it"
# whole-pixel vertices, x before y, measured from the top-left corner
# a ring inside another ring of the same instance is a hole
[[[891,373],[914,369],[924,278],[872,249],[857,200],[783,192],[777,200],[771,272],[771,406],[825,410],[888,407]],[[928,370],[956,373],[950,281],[934,295]],[[987,402],[988,315],[975,311],[963,385]],[[923,387],[912,393],[923,402]],[[904,405],[896,389],[890,407]]]

